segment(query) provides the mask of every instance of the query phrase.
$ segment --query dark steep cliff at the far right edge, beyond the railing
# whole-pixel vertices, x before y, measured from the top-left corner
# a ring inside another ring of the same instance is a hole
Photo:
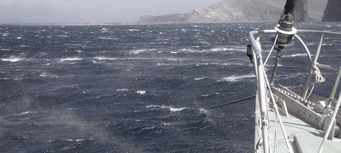
[[[341,21],[341,0],[328,0],[324,10],[322,21],[340,22]]]

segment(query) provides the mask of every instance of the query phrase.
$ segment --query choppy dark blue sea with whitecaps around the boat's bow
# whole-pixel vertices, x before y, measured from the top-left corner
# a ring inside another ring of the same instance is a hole
[[[255,93],[248,32],[275,23],[0,26],[1,153],[246,153]],[[341,32],[341,23],[297,23]],[[264,35],[263,56],[271,47]],[[320,36],[300,35],[314,54]],[[340,66],[339,38],[322,64]],[[276,82],[302,89],[309,60],[284,49]],[[275,53],[266,67],[273,68]],[[328,96],[335,72],[313,93]]]

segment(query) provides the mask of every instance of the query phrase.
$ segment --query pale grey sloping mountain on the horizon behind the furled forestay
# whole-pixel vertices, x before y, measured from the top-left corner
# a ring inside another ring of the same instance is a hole
[[[269,22],[277,21],[285,0],[223,0],[205,9],[185,14],[140,16],[140,23],[191,22]],[[326,0],[298,0],[299,21],[321,20]]]

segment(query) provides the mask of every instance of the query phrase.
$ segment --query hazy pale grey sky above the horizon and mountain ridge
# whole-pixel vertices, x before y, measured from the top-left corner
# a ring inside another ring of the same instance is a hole
[[[219,1],[0,0],[0,24],[134,22],[140,15],[186,13]]]

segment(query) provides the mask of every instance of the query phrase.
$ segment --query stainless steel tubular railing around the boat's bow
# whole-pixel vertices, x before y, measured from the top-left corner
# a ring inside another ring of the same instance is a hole
[[[263,152],[264,153],[269,153],[270,152],[269,140],[268,140],[268,124],[267,124],[268,123],[268,121],[267,121],[267,111],[268,110],[267,110],[267,101],[266,101],[266,97],[267,97],[267,95],[266,95],[266,86],[268,87],[268,90],[270,92],[269,97],[272,99],[273,102],[274,102],[274,98],[272,96],[271,88],[270,88],[269,82],[268,82],[267,77],[266,77],[266,73],[265,73],[265,69],[264,69],[264,65],[263,65],[262,50],[260,48],[260,42],[258,40],[260,39],[260,37],[263,34],[276,34],[276,33],[277,33],[276,30],[260,30],[260,31],[252,31],[252,32],[249,33],[250,42],[251,42],[251,46],[252,46],[252,49],[253,49],[253,61],[254,61],[254,66],[255,66],[255,74],[256,74],[256,78],[257,78],[257,87],[258,87],[258,93],[257,93],[258,96],[257,96],[257,98],[258,98],[258,102],[259,102],[259,104],[258,104],[259,110],[256,110],[256,111],[258,111],[257,113],[260,114],[260,120],[261,120],[261,125],[260,126],[261,126],[261,133],[262,133],[260,138],[263,140],[263,144],[262,145],[263,145]],[[257,39],[255,39],[255,37],[254,37],[255,34],[259,34]],[[316,51],[314,59],[312,59],[310,51],[308,50],[307,46],[305,45],[305,43],[299,37],[298,34],[320,34],[321,35],[321,39],[320,39],[320,43],[319,43],[319,46],[318,46],[318,50]],[[340,36],[341,37],[341,33],[326,32],[326,31],[315,31],[315,30],[297,30],[297,34],[295,34],[295,38],[302,44],[304,50],[307,53],[309,61],[311,62],[311,69],[309,71],[309,76],[307,78],[306,85],[304,87],[303,98],[306,98],[306,95],[307,95],[307,92],[308,92],[308,89],[309,89],[309,86],[310,86],[310,82],[311,82],[311,79],[312,79],[313,67],[314,66],[317,66],[318,68],[323,68],[323,69],[335,70],[335,71],[338,72],[338,76],[337,76],[335,85],[333,87],[333,90],[331,92],[330,98],[334,98],[335,92],[336,92],[338,84],[340,82],[341,66],[340,66],[340,68],[337,68],[337,67],[331,67],[331,66],[327,66],[327,65],[323,65],[323,64],[319,64],[318,63],[318,58],[319,58],[319,55],[320,55],[320,52],[321,52],[322,43],[323,43],[325,35]],[[340,101],[341,101],[341,93],[339,95],[339,100],[337,102],[337,105],[336,105],[337,107],[335,108],[334,114],[336,114],[337,110],[340,107]],[[284,139],[285,139],[285,143],[286,143],[288,152],[289,153],[293,153],[293,149],[292,149],[289,141],[287,140],[287,135],[285,133],[285,129],[284,129],[283,123],[281,121],[281,117],[279,115],[279,111],[277,109],[276,102],[274,102],[274,111],[275,111],[276,115],[279,118],[279,122],[280,122],[280,125],[281,125],[281,130],[282,130],[282,133],[284,135]],[[335,116],[336,115],[333,115],[331,123],[334,122],[333,120],[335,120]],[[328,136],[330,130],[331,130],[331,125],[328,126],[328,130],[325,132],[325,136],[323,138],[323,141],[322,141],[322,144],[321,144],[319,152],[322,151],[323,143],[325,142],[325,139]]]

